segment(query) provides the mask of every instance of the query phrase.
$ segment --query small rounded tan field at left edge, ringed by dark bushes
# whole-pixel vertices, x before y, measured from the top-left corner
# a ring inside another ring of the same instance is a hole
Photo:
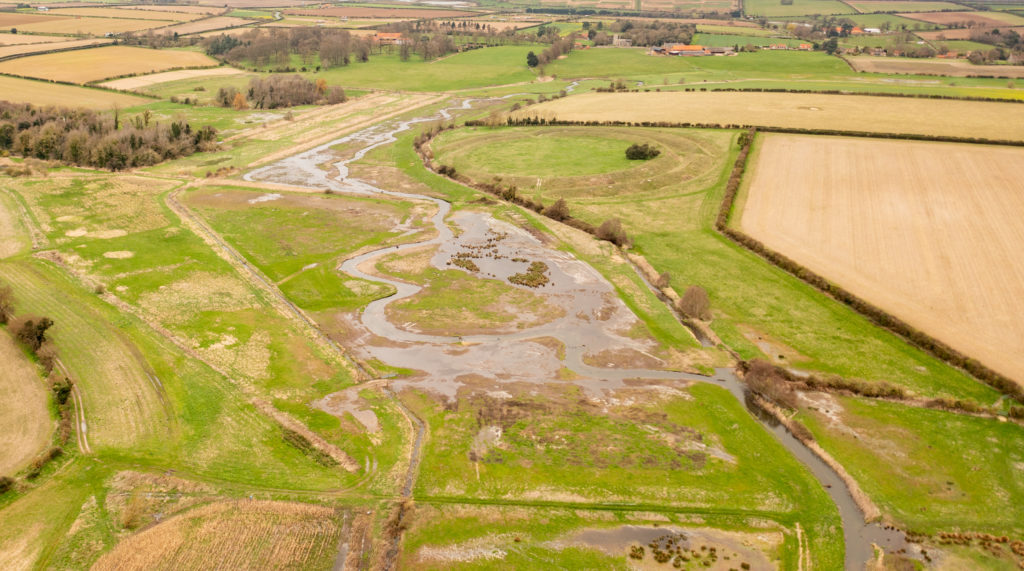
[[[53,430],[36,366],[0,332],[0,476],[11,476],[46,446]]]

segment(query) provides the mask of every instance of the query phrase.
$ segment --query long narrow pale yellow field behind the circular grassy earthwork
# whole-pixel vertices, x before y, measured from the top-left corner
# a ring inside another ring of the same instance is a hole
[[[867,95],[585,93],[517,112],[563,121],[667,121],[1024,140],[1024,105]],[[970,126],[966,129],[965,126]]]

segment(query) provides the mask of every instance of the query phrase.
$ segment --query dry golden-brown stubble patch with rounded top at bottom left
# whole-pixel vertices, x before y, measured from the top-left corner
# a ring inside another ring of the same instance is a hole
[[[93,569],[318,569],[337,554],[342,525],[332,508],[222,501],[175,516],[119,543]]]

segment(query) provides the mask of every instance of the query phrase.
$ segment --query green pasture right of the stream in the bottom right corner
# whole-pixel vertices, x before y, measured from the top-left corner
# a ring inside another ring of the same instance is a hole
[[[850,397],[836,404],[838,414],[800,418],[898,525],[1024,534],[1020,425]]]

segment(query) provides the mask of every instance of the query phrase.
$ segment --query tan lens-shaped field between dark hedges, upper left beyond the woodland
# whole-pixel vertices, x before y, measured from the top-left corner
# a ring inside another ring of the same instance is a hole
[[[0,62],[0,73],[72,83],[88,83],[125,75],[155,74],[173,68],[201,68],[216,64],[215,59],[196,51],[110,46],[19,57]]]

